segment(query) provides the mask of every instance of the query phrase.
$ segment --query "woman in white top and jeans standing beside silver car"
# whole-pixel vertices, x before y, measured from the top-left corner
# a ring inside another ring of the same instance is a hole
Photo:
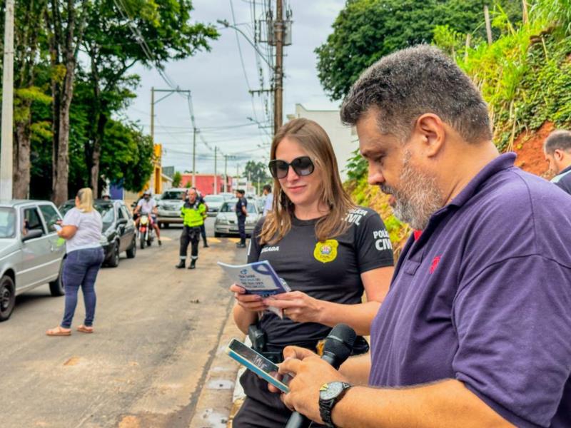
[[[66,290],[66,307],[61,325],[46,332],[49,336],[71,335],[71,320],[77,305],[77,292],[81,286],[84,293],[85,321],[77,330],[84,333],[94,331],[96,295],[95,280],[103,263],[101,248],[101,215],[94,208],[94,197],[90,188],[77,192],[76,207],[71,208],[61,222],[58,235],[66,240],[63,280]]]

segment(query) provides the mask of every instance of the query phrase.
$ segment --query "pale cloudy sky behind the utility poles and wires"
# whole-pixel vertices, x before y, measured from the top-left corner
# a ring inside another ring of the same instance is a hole
[[[256,16],[263,16],[263,2],[256,1]],[[275,1],[271,0],[275,5]],[[344,0],[285,1],[293,13],[293,44],[285,48],[283,112],[293,113],[295,103],[306,108],[338,107],[323,93],[315,69],[313,50],[323,44],[331,25],[343,8]],[[252,34],[252,0],[195,0],[193,21],[216,24],[216,20],[236,22],[239,29]],[[232,8],[234,14],[232,14]],[[221,27],[220,38],[211,43],[211,52],[199,53],[184,61],[166,64],[166,75],[182,89],[192,92],[196,126],[201,130],[196,144],[196,170],[214,172],[214,147],[218,153],[234,156],[228,159],[228,174],[243,169],[248,159],[267,161],[272,117],[271,98],[267,110],[263,98],[252,97],[248,89],[261,88],[258,69],[263,68],[268,88],[268,66],[256,55],[251,44],[233,29]],[[241,47],[243,66],[238,41]],[[266,45],[261,45],[263,52]],[[165,89],[168,85],[154,69],[136,68],[141,76],[137,98],[128,108],[127,116],[150,131],[151,87]],[[156,93],[158,100],[164,93]],[[256,124],[254,121],[258,121]],[[266,126],[266,128],[264,128]],[[192,126],[188,102],[183,96],[172,95],[155,106],[155,141],[163,143],[163,166],[176,170],[192,169]],[[223,173],[223,157],[218,157],[218,173]]]

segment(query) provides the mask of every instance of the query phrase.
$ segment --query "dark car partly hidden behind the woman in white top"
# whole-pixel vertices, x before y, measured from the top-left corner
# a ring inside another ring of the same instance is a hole
[[[68,200],[61,205],[61,213],[65,215],[75,202]],[[134,258],[137,252],[135,222],[122,200],[95,200],[94,207],[101,214],[103,232],[101,247],[105,252],[103,264],[110,267],[119,265],[119,255],[126,252],[127,258]]]

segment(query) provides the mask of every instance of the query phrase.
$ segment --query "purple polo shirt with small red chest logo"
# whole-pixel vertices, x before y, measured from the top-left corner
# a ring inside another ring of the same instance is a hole
[[[495,158],[411,237],[369,383],[458,379],[517,427],[571,427],[571,198]]]

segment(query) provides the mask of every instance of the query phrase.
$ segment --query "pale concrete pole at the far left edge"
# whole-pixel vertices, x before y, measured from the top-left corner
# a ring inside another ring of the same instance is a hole
[[[12,198],[12,147],[14,123],[14,0],[6,0],[4,21],[4,76],[2,76],[2,133],[0,148],[0,199]]]

